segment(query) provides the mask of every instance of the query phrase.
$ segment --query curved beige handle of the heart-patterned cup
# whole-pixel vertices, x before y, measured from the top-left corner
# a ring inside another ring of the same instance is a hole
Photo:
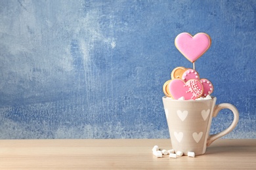
[[[220,137],[223,137],[227,133],[230,133],[230,131],[232,131],[234,127],[236,127],[236,125],[238,124],[238,120],[239,120],[238,109],[236,109],[236,107],[234,107],[234,105],[231,105],[230,103],[221,103],[219,105],[216,105],[213,109],[213,117],[216,117],[219,114],[219,111],[221,111],[222,109],[230,109],[234,114],[234,120],[232,124],[224,131],[221,131],[214,135],[209,135],[209,138],[207,139],[207,146],[213,143],[213,141],[215,141],[216,139],[219,139]]]

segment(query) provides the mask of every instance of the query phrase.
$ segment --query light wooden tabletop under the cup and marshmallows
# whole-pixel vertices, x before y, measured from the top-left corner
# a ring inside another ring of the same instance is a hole
[[[154,145],[171,140],[0,140],[0,169],[256,169],[256,139],[218,139],[195,158],[156,158]]]

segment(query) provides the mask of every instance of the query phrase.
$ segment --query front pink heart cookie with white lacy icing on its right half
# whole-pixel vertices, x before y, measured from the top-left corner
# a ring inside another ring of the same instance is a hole
[[[179,99],[182,96],[185,100],[196,99],[203,93],[203,85],[199,80],[191,79],[187,82],[177,78],[173,79],[167,85],[169,93],[173,99]]]

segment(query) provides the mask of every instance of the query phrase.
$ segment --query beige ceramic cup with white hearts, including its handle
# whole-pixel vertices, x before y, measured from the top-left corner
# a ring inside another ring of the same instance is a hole
[[[203,100],[174,100],[163,97],[171,144],[175,152],[182,151],[184,155],[188,152],[204,154],[207,146],[236,127],[239,119],[236,107],[229,103],[215,103],[216,97]],[[222,109],[230,109],[234,114],[234,120],[224,131],[209,135],[211,120]]]

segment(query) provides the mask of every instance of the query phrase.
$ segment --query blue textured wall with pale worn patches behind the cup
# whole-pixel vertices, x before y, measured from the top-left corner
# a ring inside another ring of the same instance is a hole
[[[0,1],[0,138],[167,138],[163,83],[181,32],[211,36],[196,61],[217,103],[256,138],[256,1]],[[223,110],[211,133],[227,127]]]

